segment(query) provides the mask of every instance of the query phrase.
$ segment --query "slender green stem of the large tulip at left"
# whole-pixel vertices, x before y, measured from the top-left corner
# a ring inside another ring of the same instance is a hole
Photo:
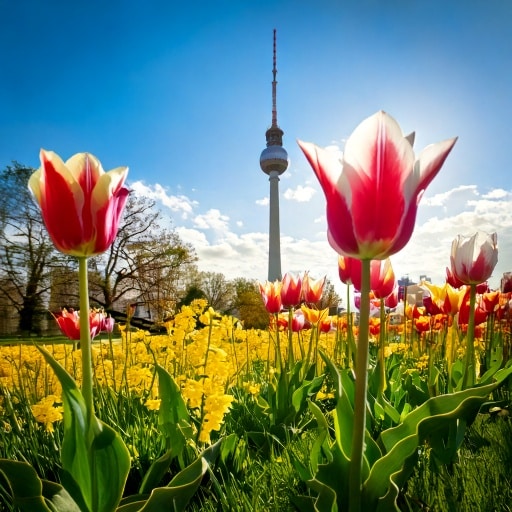
[[[82,396],[85,401],[87,421],[94,415],[92,392],[91,328],[89,325],[89,283],[87,257],[78,258],[78,281],[80,293],[80,347],[82,350]]]

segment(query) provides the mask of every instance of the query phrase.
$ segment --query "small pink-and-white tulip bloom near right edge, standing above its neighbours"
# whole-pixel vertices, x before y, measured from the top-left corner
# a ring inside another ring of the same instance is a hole
[[[450,262],[452,274],[462,283],[484,283],[498,263],[498,235],[478,231],[471,237],[457,236]]]

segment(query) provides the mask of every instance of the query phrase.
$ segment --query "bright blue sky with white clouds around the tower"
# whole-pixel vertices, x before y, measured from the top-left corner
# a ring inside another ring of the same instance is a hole
[[[415,148],[458,136],[396,273],[444,278],[457,234],[497,231],[512,270],[512,3],[507,0],[0,0],[0,166],[41,147],[130,167],[201,270],[266,278],[272,31],[283,272],[337,282],[323,194],[296,139],[343,149],[386,110]],[[338,285],[337,285],[338,286]]]

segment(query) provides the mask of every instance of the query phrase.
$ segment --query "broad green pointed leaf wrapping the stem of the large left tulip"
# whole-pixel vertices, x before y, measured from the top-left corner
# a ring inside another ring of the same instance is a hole
[[[130,470],[130,454],[117,432],[92,416],[73,378],[38,347],[62,386],[64,439],[61,481],[82,510],[110,512],[121,499]]]

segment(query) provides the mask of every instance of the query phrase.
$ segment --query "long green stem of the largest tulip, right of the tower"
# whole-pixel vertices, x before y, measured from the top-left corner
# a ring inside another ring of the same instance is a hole
[[[361,512],[364,438],[366,434],[366,394],[368,388],[368,347],[370,321],[370,261],[361,261],[361,306],[359,339],[356,348],[354,430],[349,475],[349,512]]]

